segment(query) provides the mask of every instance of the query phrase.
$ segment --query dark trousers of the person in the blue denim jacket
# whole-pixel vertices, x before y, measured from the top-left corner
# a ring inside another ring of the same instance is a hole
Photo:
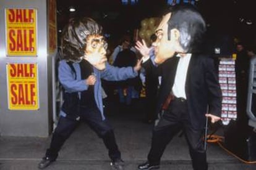
[[[80,111],[80,121],[87,123],[93,131],[103,139],[106,148],[108,148],[108,155],[111,160],[121,158],[121,153],[117,147],[113,129],[106,119],[102,120],[100,110],[98,110],[98,108],[85,107],[80,108]],[[51,160],[56,160],[59,150],[61,150],[62,145],[69,138],[70,134],[72,134],[78,123],[79,121],[64,118],[63,116],[59,118],[58,125],[54,130],[51,139],[50,147],[46,151],[46,156]]]

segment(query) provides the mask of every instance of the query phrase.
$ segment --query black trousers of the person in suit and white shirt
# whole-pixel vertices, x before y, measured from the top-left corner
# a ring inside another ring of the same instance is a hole
[[[153,165],[160,164],[166,145],[181,129],[184,131],[189,144],[193,168],[195,170],[206,170],[208,165],[202,140],[203,129],[192,128],[187,110],[187,101],[177,98],[170,103],[168,110],[153,129],[148,162]]]

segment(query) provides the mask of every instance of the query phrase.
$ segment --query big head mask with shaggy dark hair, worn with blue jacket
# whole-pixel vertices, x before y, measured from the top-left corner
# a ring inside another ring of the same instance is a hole
[[[105,69],[107,43],[102,36],[102,27],[92,18],[71,20],[62,31],[61,51],[64,59],[88,60],[99,70]]]

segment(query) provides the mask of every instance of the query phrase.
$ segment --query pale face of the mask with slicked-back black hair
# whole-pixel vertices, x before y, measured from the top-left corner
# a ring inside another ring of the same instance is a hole
[[[155,33],[157,36],[155,43],[155,55],[156,63],[162,63],[164,60],[172,57],[174,55],[174,46],[176,42],[171,36],[171,39],[168,40],[168,20],[171,18],[171,13],[164,15],[163,19],[160,22],[158,28],[156,28]]]

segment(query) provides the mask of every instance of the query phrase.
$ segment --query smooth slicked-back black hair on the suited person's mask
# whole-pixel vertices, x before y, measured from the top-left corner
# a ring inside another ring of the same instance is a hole
[[[171,18],[168,21],[168,38],[172,29],[180,32],[179,42],[184,52],[200,51],[206,31],[205,20],[192,6],[175,6],[171,9]]]

